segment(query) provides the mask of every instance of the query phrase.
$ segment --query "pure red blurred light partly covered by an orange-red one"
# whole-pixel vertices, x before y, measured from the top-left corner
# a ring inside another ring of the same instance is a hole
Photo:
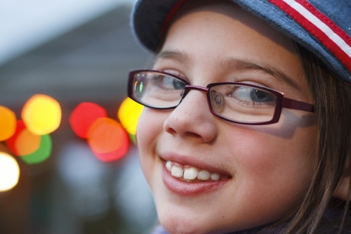
[[[105,108],[95,103],[80,103],[69,116],[69,124],[77,136],[87,138],[91,124],[101,117],[107,117]]]

